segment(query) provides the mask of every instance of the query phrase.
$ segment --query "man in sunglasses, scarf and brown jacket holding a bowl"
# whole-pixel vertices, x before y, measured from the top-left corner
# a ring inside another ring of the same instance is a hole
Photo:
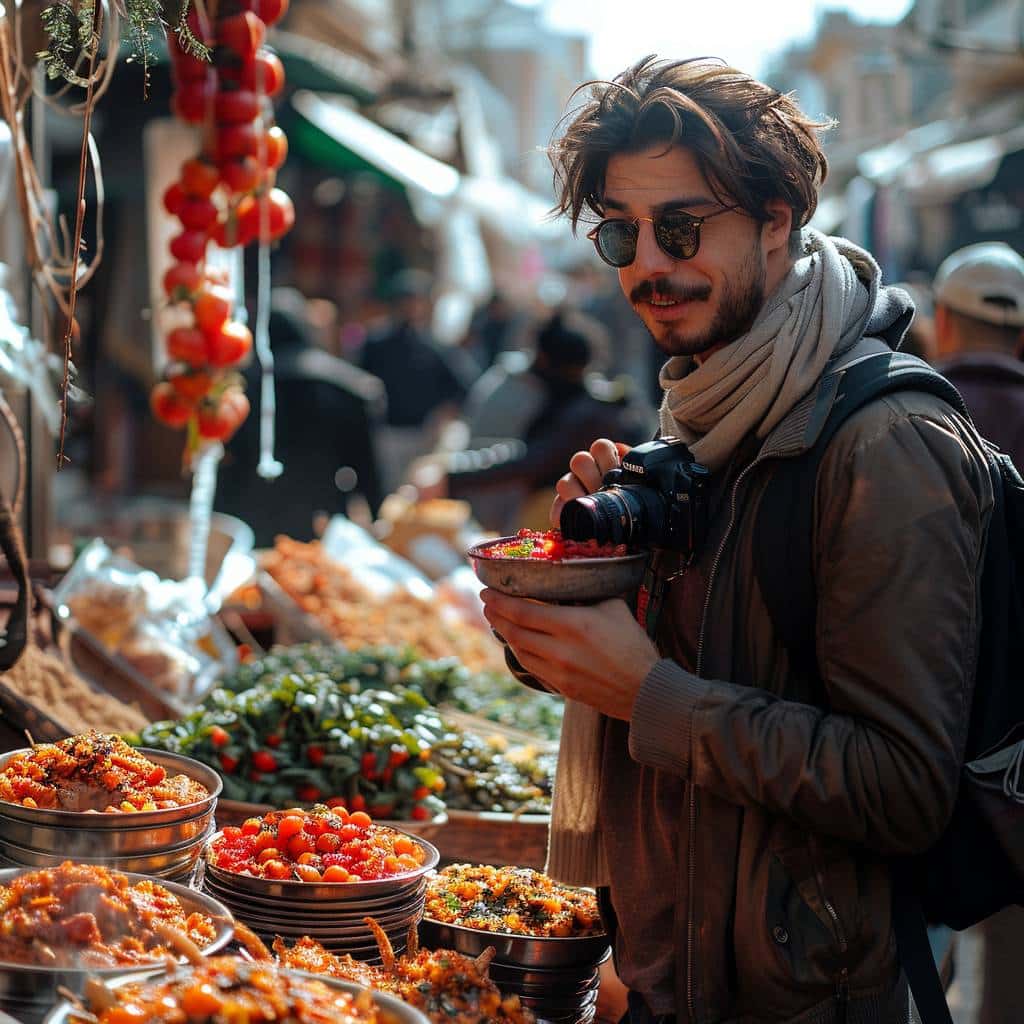
[[[560,207],[668,357],[662,429],[710,467],[710,536],[664,566],[649,638],[625,602],[484,592],[525,670],[568,699],[549,868],[601,887],[634,1024],[896,1024],[888,858],[942,833],[963,760],[991,487],[937,399],[853,415],[817,477],[817,677],[757,585],[773,463],[813,442],[822,374],[911,315],[874,260],[803,228],[825,172],[790,96],[730,68],[641,61],[554,146]],[[552,510],[618,452],[578,453]],[[656,593],[652,588],[651,593]]]

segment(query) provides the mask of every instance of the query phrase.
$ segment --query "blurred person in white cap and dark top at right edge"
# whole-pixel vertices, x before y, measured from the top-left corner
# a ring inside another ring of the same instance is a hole
[[[1024,468],[1024,259],[1002,242],[968,246],[945,259],[934,288],[938,369],[979,432]]]

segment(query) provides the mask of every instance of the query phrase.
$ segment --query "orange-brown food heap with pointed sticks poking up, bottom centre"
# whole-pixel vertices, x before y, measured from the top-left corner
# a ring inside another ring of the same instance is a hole
[[[409,932],[409,947],[396,957],[380,925],[373,918],[367,918],[366,923],[377,938],[380,967],[347,953],[332,953],[308,935],[291,948],[278,938],[273,951],[287,967],[391,992],[435,1024],[534,1024],[534,1015],[520,1004],[519,996],[503,996],[487,977],[494,947],[475,959],[452,949],[420,949],[414,927]]]

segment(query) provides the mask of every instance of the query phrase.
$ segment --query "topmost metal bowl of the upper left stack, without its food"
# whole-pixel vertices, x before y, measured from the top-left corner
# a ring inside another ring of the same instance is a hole
[[[193,819],[203,814],[213,813],[217,797],[224,783],[212,768],[208,768],[191,758],[183,757],[180,754],[169,754],[167,751],[154,751],[145,746],[138,748],[138,751],[154,764],[166,769],[168,775],[187,775],[199,782],[206,787],[209,796],[180,807],[168,807],[160,811],[134,811],[131,814],[95,814],[88,811],[48,810],[42,807],[25,807],[22,804],[0,800],[0,814],[7,818],[26,821],[31,825],[48,825],[51,828],[59,828],[61,833],[77,828],[106,833],[114,843],[117,842],[117,834],[126,826],[128,828],[163,828],[184,822],[186,823],[185,833],[176,836],[175,842],[187,839],[188,828],[193,827]],[[7,767],[12,758],[31,753],[32,748],[25,746],[22,750],[0,755],[0,772]],[[67,842],[65,845],[67,846]]]

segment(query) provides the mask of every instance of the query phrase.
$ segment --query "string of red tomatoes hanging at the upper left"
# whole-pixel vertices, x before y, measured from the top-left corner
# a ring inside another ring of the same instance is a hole
[[[169,362],[151,402],[159,420],[187,429],[189,461],[204,443],[230,438],[249,415],[239,369],[253,336],[236,315],[227,275],[208,264],[207,247],[268,246],[295,223],[291,199],[274,186],[288,140],[272,124],[271,100],[285,72],[263,46],[266,26],[287,6],[287,0],[222,0],[219,9],[211,6],[212,18],[190,11],[188,28],[213,49],[212,66],[171,44],[172,110],[204,132],[201,153],[184,161],[164,195],[165,209],[181,222],[164,292],[184,315],[167,335]],[[270,385],[272,416],[272,378]],[[270,443],[272,453],[272,434]]]

